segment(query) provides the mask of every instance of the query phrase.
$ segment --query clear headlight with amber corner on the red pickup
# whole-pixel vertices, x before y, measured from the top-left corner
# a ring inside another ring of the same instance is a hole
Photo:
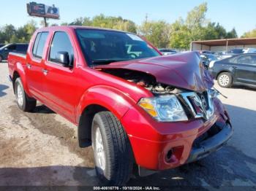
[[[138,105],[161,122],[188,120],[176,95],[160,95],[154,98],[141,98]]]

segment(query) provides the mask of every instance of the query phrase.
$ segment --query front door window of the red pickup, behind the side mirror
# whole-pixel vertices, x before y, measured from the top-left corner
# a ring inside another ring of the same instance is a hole
[[[69,40],[69,36],[65,32],[56,32],[53,36],[52,44],[50,45],[49,61],[56,62],[56,55],[58,52],[68,52],[69,64],[73,65],[73,47]]]

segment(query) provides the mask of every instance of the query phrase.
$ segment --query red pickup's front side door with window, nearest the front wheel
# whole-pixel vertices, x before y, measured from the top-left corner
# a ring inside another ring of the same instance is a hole
[[[68,52],[70,67],[63,66],[56,60],[58,52]],[[77,80],[74,67],[74,48],[69,35],[64,31],[56,31],[48,52],[48,61],[45,61],[45,92],[49,106],[69,120],[75,120],[75,103]]]

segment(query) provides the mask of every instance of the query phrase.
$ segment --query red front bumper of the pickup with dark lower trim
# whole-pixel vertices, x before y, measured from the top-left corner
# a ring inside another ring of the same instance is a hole
[[[222,147],[230,139],[232,128],[219,99],[214,99],[214,108],[213,116],[207,121],[186,122],[157,122],[140,111],[139,106],[129,109],[121,118],[121,124],[129,136],[135,163],[140,168],[162,171],[199,160]],[[205,133],[216,125],[219,126],[217,133],[206,137]],[[170,152],[172,155],[168,157]]]

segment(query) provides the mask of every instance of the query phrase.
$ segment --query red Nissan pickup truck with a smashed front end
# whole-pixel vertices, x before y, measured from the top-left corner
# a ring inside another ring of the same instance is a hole
[[[199,160],[233,133],[197,52],[162,56],[135,34],[60,26],[36,31],[8,64],[18,107],[40,101],[77,125],[105,184]]]

